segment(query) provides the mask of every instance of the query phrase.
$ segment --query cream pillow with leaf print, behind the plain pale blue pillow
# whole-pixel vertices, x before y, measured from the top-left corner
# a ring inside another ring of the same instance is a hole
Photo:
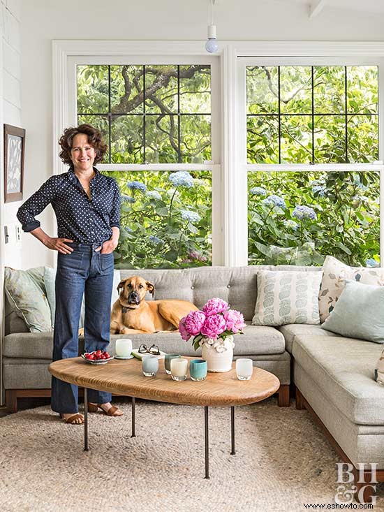
[[[384,268],[350,267],[333,256],[327,256],[323,264],[323,279],[318,295],[320,322],[323,323],[344,290],[346,279],[363,284],[384,286]]]

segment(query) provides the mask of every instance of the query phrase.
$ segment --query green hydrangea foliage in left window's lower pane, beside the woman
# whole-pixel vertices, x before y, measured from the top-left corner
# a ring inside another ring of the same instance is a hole
[[[205,171],[104,172],[121,191],[121,233],[116,268],[188,268],[212,265],[212,182]],[[193,180],[192,180],[193,178]]]

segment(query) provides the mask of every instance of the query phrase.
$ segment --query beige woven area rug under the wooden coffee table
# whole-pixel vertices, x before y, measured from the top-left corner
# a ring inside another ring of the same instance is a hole
[[[204,476],[204,409],[121,399],[121,418],[89,414],[66,425],[49,406],[0,419],[1,511],[289,511],[334,503],[337,454],[307,411],[276,399],[209,409],[210,476]],[[348,485],[348,484],[346,484]],[[383,487],[375,511],[384,511]],[[357,505],[358,507],[358,505]]]

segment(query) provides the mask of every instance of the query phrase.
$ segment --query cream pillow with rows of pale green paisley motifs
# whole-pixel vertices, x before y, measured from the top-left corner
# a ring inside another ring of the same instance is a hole
[[[260,270],[253,326],[319,323],[321,272]]]

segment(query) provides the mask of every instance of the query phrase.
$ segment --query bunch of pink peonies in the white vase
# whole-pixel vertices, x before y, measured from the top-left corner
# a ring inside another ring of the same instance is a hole
[[[208,300],[202,311],[191,311],[179,323],[182,339],[188,342],[193,337],[195,350],[203,343],[213,344],[224,341],[234,334],[243,334],[244,316],[235,309],[229,309],[228,303],[220,298]]]

